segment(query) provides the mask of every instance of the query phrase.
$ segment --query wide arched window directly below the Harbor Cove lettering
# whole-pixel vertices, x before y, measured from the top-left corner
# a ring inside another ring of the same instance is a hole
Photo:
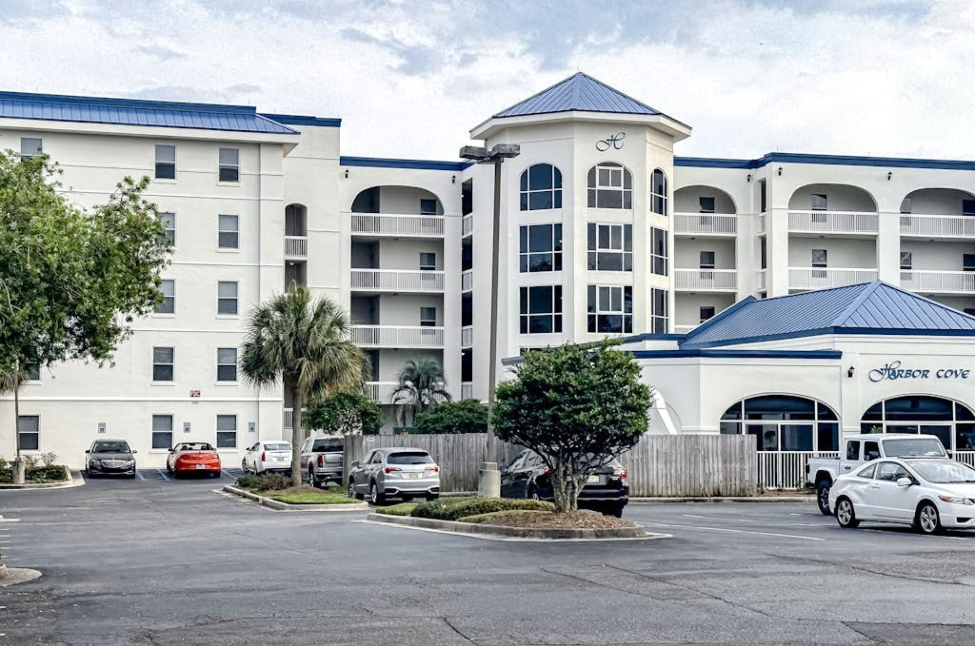
[[[975,414],[943,397],[909,395],[879,401],[860,420],[863,433],[937,435],[950,451],[975,451]]]

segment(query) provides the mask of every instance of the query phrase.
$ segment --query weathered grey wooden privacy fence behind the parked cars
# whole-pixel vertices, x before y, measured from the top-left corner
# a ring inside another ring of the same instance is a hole
[[[445,492],[477,491],[482,462],[504,467],[522,450],[486,433],[353,435],[346,438],[345,464],[384,447],[429,451],[441,467]],[[754,496],[758,491],[759,457],[749,435],[644,435],[620,462],[634,497]]]

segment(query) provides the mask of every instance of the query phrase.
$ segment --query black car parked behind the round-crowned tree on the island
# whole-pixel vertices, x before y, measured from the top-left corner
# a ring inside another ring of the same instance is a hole
[[[523,451],[501,471],[501,496],[555,500],[551,474],[552,471],[534,451]],[[602,511],[616,517],[623,515],[623,507],[629,502],[626,469],[616,460],[597,468],[579,492],[579,508]]]

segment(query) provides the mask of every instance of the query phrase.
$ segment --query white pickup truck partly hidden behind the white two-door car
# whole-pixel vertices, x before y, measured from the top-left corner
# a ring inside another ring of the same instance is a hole
[[[810,458],[805,464],[806,481],[816,489],[816,504],[827,516],[830,512],[830,487],[838,475],[878,458],[924,456],[948,458],[937,435],[907,433],[866,433],[846,435],[839,447],[839,458]]]

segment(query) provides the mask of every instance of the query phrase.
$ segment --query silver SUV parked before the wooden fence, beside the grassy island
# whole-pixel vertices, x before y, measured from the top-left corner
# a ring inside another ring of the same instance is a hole
[[[369,496],[372,505],[387,498],[440,497],[440,467],[422,449],[373,449],[349,467],[349,498]]]

